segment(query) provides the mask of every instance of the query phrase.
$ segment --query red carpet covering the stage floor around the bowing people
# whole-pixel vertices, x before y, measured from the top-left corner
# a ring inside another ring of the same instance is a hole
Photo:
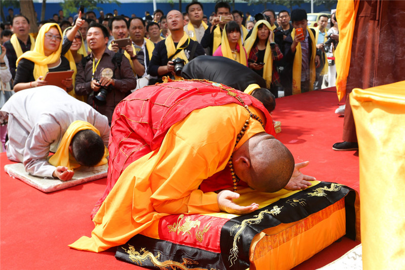
[[[296,162],[309,160],[305,174],[337,182],[358,191],[358,153],[332,150],[341,141],[343,118],[335,89],[324,89],[276,100],[278,139],[293,152]],[[67,245],[90,236],[90,211],[102,195],[106,179],[45,194],[4,172],[9,164],[0,154],[0,268],[2,269],[140,269],[114,258],[115,248],[100,254]],[[294,269],[316,269],[339,258],[358,242],[343,238]]]

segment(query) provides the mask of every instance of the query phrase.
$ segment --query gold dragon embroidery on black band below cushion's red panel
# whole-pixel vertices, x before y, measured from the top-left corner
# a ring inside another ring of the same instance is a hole
[[[145,248],[141,248],[138,252],[135,250],[134,246],[131,246],[131,245],[128,245],[128,246],[129,246],[128,250],[125,248],[123,248],[123,249],[129,254],[129,258],[140,266],[142,266],[142,262],[145,262],[147,259],[149,259],[155,266],[159,267],[161,270],[165,270],[165,269],[208,270],[206,268],[200,268],[200,267],[190,268],[190,266],[187,266],[187,265],[192,265],[192,264],[198,264],[197,261],[192,260],[192,259],[183,258],[182,263],[177,262],[177,261],[172,261],[172,260],[159,261],[158,259],[160,257],[160,253],[158,253],[156,256],[153,256],[153,253],[145,250]],[[143,252],[143,253],[141,254],[141,252]],[[211,268],[210,270],[215,270],[215,269]]]

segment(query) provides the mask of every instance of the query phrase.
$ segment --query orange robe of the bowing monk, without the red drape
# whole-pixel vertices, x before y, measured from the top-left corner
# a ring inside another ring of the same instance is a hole
[[[265,120],[259,110],[249,108]],[[247,119],[248,111],[235,103],[191,112],[169,129],[160,148],[121,174],[93,219],[92,237],[82,237],[69,246],[100,252],[125,244],[163,216],[219,212],[217,194],[204,193],[198,186],[226,168],[235,149],[264,132],[258,121],[250,119],[245,135],[234,147]]]

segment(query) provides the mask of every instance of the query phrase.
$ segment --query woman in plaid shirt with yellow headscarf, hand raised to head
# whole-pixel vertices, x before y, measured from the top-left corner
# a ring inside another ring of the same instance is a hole
[[[266,80],[266,87],[270,89],[272,83],[279,83],[273,60],[281,60],[282,53],[274,43],[274,33],[268,21],[260,20],[255,24],[252,34],[245,41],[245,49],[249,67]]]

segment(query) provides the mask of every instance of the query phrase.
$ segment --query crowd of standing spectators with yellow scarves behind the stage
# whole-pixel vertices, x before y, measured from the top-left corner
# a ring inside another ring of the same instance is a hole
[[[302,9],[291,14],[267,9],[252,16],[231,10],[227,2],[217,3],[212,13],[191,2],[184,13],[157,9],[153,14],[146,11],[143,18],[118,15],[117,10],[99,11],[97,17],[82,6],[74,17],[60,10],[39,22],[38,33],[29,33],[29,20],[12,9],[7,20],[1,32],[2,55],[6,53],[0,58],[2,72],[11,74],[9,81],[2,79],[5,88],[21,91],[47,85],[48,71],[74,70],[60,86],[109,121],[115,105],[137,84],[178,78],[177,67],[199,55],[227,57],[249,67],[275,97],[280,91],[291,95],[318,89],[326,75],[330,86],[335,80],[335,74],[328,73],[339,39],[334,14],[330,30],[328,16],[309,28]],[[333,43],[327,47],[330,36]]]

